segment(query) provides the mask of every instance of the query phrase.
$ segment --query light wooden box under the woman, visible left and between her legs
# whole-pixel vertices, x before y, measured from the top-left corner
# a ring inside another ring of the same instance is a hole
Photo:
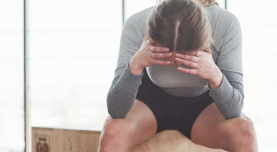
[[[32,127],[32,152],[97,152],[101,129]],[[197,145],[177,130],[164,130],[129,152],[224,152]]]

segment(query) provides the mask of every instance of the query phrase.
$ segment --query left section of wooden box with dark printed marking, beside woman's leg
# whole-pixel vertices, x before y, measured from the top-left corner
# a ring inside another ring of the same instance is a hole
[[[32,152],[97,152],[101,131],[32,127]]]

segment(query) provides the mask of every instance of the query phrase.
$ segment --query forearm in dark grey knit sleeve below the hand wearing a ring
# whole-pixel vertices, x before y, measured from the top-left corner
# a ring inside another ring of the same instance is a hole
[[[133,74],[130,69],[139,75]],[[112,83],[107,94],[108,113],[112,118],[124,118],[133,107],[141,78],[141,69],[134,69],[130,62],[126,65],[122,75]]]

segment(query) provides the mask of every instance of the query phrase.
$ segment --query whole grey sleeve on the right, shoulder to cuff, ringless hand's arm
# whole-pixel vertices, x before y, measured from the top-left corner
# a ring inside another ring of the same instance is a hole
[[[219,50],[217,66],[222,72],[220,86],[210,90],[210,96],[225,119],[241,115],[243,109],[243,70],[241,26],[235,15],[226,18],[226,31]]]

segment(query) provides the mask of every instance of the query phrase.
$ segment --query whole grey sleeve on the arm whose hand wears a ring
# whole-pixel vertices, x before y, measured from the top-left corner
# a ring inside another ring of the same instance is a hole
[[[107,108],[112,118],[124,118],[133,107],[142,76],[133,74],[129,62],[140,44],[135,29],[128,18],[123,25],[118,61],[114,72],[114,80],[107,94]]]

